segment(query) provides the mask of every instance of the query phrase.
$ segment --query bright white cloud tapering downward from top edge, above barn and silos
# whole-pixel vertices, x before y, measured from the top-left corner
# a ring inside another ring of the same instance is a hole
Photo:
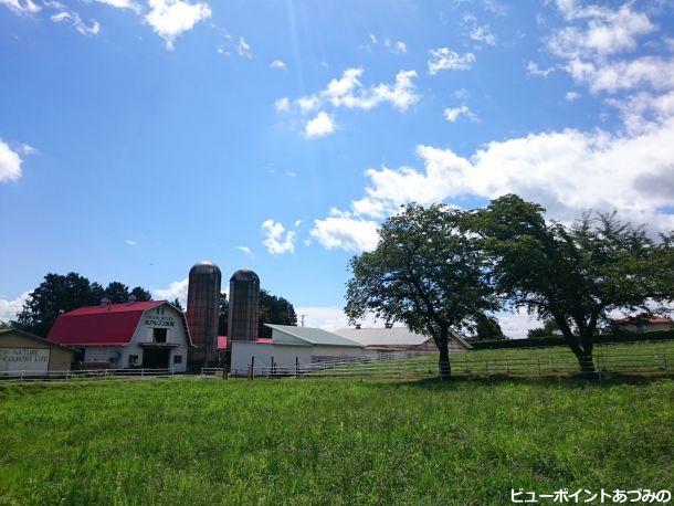
[[[145,17],[152,30],[166,41],[169,50],[182,32],[211,17],[211,8],[207,2],[190,3],[185,0],[148,0],[150,11]]]

